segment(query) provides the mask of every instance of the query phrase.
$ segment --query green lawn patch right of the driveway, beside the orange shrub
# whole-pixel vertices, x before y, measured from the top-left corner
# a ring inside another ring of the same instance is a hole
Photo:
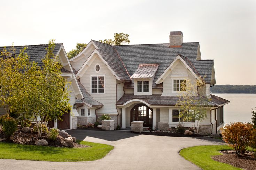
[[[207,145],[207,146],[194,146],[185,148],[180,151],[180,155],[186,160],[196,164],[202,169],[207,170],[233,170],[240,169],[233,167],[232,165],[214,161],[211,157],[215,155],[221,155],[218,151],[232,150],[227,145]]]

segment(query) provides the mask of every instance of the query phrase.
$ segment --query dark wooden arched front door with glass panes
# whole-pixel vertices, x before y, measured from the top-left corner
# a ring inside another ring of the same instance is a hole
[[[152,108],[147,107],[145,104],[137,104],[131,109],[131,122],[143,121],[143,126],[152,127]]]

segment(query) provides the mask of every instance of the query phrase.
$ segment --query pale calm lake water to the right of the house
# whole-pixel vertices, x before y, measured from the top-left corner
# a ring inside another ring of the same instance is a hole
[[[224,105],[224,122],[249,122],[251,120],[251,108],[256,110],[256,94],[220,94],[213,95],[229,100]]]

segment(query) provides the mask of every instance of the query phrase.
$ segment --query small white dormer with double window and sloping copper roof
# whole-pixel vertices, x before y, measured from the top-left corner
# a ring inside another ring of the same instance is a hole
[[[134,95],[152,95],[152,84],[158,64],[140,64],[131,76],[134,81]]]

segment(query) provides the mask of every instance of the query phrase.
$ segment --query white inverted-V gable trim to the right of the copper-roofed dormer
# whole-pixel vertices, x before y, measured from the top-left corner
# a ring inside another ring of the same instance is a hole
[[[201,81],[201,79],[199,78],[199,76],[197,76],[195,74],[195,72],[187,65],[187,63],[183,60],[183,58],[181,57],[180,54],[177,55],[177,57],[171,62],[171,64],[165,69],[165,71],[163,72],[163,74],[156,80],[156,84],[160,84],[163,82],[163,80],[166,78],[166,76],[168,75],[168,73],[170,71],[173,70],[173,68],[175,68],[175,66],[178,64],[178,61],[181,61],[186,69],[188,69],[192,75],[199,81]]]

